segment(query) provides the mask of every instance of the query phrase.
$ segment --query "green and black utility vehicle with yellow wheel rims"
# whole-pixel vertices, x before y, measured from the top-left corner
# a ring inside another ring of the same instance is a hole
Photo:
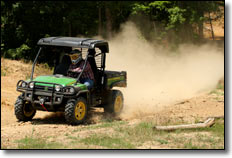
[[[22,94],[15,103],[15,115],[19,121],[30,121],[37,110],[64,112],[67,123],[83,123],[91,107],[103,107],[104,111],[114,116],[123,109],[123,94],[113,87],[127,86],[125,71],[106,71],[106,53],[108,43],[103,40],[77,37],[48,37],[38,41],[39,51],[32,65],[31,77],[17,83],[17,91]],[[58,66],[68,70],[70,63],[63,60],[74,48],[82,51],[85,64],[77,78],[68,77],[58,71]],[[41,58],[40,58],[41,57]],[[53,74],[33,78],[37,63],[46,61],[54,67]],[[79,79],[86,68],[87,61],[93,70],[94,87],[88,90]]]

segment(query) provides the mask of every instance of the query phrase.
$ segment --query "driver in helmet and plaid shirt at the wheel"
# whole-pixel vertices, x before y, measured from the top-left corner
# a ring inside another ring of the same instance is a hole
[[[82,59],[81,51],[75,49],[69,54],[72,64],[69,66],[67,76],[77,78],[79,73],[83,70],[85,61]],[[86,67],[80,77],[80,82],[85,84],[88,89],[93,88],[94,74],[89,62],[87,61]]]

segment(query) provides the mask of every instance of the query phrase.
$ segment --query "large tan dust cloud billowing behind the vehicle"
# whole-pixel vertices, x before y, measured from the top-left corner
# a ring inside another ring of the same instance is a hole
[[[224,54],[213,45],[167,51],[141,38],[132,22],[109,41],[106,69],[127,71],[123,118],[152,114],[166,105],[214,89],[224,76]]]

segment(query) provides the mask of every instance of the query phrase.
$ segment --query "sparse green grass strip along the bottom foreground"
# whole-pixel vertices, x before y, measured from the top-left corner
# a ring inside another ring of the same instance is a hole
[[[128,125],[126,121],[103,122],[65,133],[65,144],[50,142],[48,137],[35,137],[32,129],[31,136],[16,143],[19,149],[224,149],[223,119],[216,119],[215,124],[208,128],[166,132],[154,130],[153,127],[152,122],[133,125]],[[98,129],[103,130],[99,132]],[[54,136],[52,138],[56,140]]]

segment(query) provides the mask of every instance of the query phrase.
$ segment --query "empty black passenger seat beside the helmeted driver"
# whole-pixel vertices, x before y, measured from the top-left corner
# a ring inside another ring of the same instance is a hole
[[[56,67],[54,74],[61,74],[66,76],[69,66],[71,65],[71,59],[68,55],[64,55],[61,63]]]

